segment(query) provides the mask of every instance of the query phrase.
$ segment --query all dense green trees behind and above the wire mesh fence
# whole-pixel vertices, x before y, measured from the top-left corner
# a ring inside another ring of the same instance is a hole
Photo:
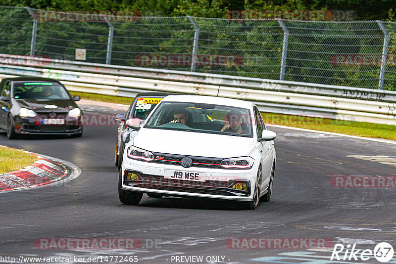
[[[236,63],[198,63],[197,72],[267,79],[280,78],[284,32],[278,22],[203,17],[229,18],[230,10],[247,10],[245,14],[250,14],[249,10],[333,10],[330,14],[336,14],[335,10],[339,10],[341,14],[351,11],[354,20],[396,18],[395,0],[3,0],[1,4],[45,10],[139,11],[145,18],[112,23],[111,64],[187,71],[191,66],[188,62],[142,65],[142,56],[192,54],[195,31],[186,16],[202,17],[194,19],[200,29],[198,56],[208,57],[198,59],[233,56]],[[0,13],[0,53],[29,55],[32,17],[22,8],[0,7]],[[378,87],[384,34],[377,22],[285,24],[290,33],[285,80]],[[393,58],[396,24],[385,26],[390,34],[388,55]],[[74,60],[75,49],[85,48],[87,62],[105,63],[108,33],[104,22],[39,21],[35,55]],[[334,56],[340,54],[352,54],[352,59],[363,54],[364,59],[372,57],[376,62],[333,63]],[[387,63],[384,88],[396,89],[395,80],[396,59]]]

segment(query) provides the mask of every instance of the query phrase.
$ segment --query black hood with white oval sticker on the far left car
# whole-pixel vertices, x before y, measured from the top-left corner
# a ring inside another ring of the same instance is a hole
[[[16,99],[21,107],[26,107],[35,112],[68,112],[70,109],[76,108],[77,104],[73,100],[34,100],[34,99]],[[56,106],[56,108],[53,107]],[[47,107],[46,107],[47,106]],[[52,107],[51,107],[52,106]]]

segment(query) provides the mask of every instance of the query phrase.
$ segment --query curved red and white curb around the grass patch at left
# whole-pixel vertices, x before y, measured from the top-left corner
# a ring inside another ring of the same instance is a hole
[[[58,184],[81,174],[81,170],[70,162],[25,152],[37,155],[37,160],[23,169],[0,175],[0,192]]]

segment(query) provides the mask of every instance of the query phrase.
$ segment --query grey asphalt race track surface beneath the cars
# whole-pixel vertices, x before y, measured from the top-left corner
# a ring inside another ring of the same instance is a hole
[[[79,105],[85,114],[125,112],[122,107]],[[271,202],[241,210],[232,202],[145,195],[140,205],[127,206],[119,202],[117,193],[116,128],[86,126],[81,138],[8,140],[0,132],[2,145],[66,160],[82,170],[64,184],[0,193],[0,256],[137,256],[138,263],[147,264],[379,263],[373,257],[330,261],[332,248],[254,248],[253,243],[247,245],[252,248],[241,249],[242,244],[229,242],[230,238],[328,238],[344,245],[356,243],[356,249],[373,250],[379,242],[396,246],[395,186],[334,186],[337,176],[395,177],[395,144],[269,127],[278,133]],[[386,157],[373,157],[379,155]],[[133,238],[142,245],[41,249],[37,246],[41,238]],[[189,256],[202,256],[203,261]]]

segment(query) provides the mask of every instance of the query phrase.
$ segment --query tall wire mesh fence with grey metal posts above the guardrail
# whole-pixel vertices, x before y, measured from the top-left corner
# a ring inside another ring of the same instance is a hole
[[[0,53],[75,60],[83,48],[93,63],[396,90],[395,22],[48,12],[0,6]]]

